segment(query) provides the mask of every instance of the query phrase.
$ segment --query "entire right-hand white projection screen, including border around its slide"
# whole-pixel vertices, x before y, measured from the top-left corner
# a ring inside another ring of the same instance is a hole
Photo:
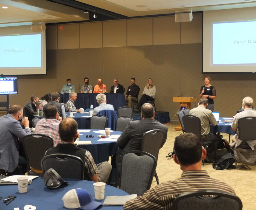
[[[204,11],[202,73],[256,72],[255,10]]]

